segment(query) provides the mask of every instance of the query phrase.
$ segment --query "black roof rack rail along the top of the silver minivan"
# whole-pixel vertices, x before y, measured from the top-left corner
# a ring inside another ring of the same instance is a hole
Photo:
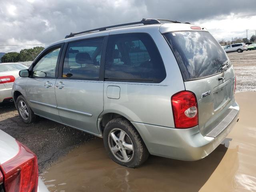
[[[70,37],[74,37],[74,36],[80,35],[80,34],[85,34],[85,33],[95,32],[95,31],[104,31],[104,30],[107,30],[107,29],[109,29],[109,28],[115,28],[115,27],[120,27],[120,26],[128,26],[128,25],[136,25],[136,24],[151,25],[151,24],[160,24],[160,23],[166,23],[166,22],[170,22],[170,23],[180,23],[179,21],[172,21],[172,20],[168,20],[168,19],[145,19],[145,18],[143,18],[141,21],[138,21],[138,22],[132,22],[132,23],[124,23],[124,24],[119,24],[119,25],[106,26],[106,27],[101,27],[101,28],[91,29],[91,30],[87,30],[87,31],[76,32],[76,33],[72,33],[72,32],[71,32],[69,35],[67,35],[67,36],[65,37],[65,39],[66,39],[66,38],[70,38]]]

